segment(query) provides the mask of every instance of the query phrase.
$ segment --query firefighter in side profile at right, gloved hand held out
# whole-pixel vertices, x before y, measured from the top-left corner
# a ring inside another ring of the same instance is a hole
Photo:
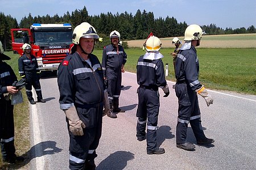
[[[213,104],[205,87],[199,82],[199,59],[196,46],[200,45],[203,30],[199,25],[192,24],[185,30],[184,45],[177,54],[175,63],[176,87],[175,92],[179,100],[176,128],[176,146],[184,150],[194,150],[195,145],[187,141],[187,128],[190,123],[198,145],[213,143],[213,139],[205,137],[201,125],[201,113],[197,94],[204,97],[207,106]]]

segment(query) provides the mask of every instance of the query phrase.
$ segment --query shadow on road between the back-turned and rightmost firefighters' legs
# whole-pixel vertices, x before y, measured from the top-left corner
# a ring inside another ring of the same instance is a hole
[[[166,139],[172,139],[175,137],[175,135],[171,133],[170,126],[160,126],[158,130],[156,130],[156,134],[158,147],[160,147]]]

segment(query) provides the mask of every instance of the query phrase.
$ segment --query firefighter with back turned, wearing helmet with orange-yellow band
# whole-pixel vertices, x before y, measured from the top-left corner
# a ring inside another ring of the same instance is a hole
[[[160,107],[158,88],[163,89],[164,97],[170,94],[168,84],[164,78],[164,66],[161,59],[164,56],[159,52],[161,45],[158,37],[150,36],[146,41],[146,54],[139,57],[137,64],[139,103],[136,136],[138,141],[147,139],[147,154],[164,154],[165,152],[164,148],[159,148],[156,145],[156,129]]]

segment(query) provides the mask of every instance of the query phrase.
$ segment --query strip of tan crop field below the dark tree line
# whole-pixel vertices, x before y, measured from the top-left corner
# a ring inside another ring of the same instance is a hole
[[[172,38],[160,39],[163,48],[171,48]],[[183,41],[184,37],[179,37]],[[130,47],[142,48],[145,40],[127,41]],[[203,35],[199,48],[256,48],[256,33],[237,35]]]

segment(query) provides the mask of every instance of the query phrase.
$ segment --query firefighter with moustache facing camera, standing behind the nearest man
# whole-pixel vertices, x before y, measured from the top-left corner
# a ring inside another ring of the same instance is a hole
[[[102,54],[102,69],[104,78],[108,80],[108,94],[110,103],[110,112],[108,116],[117,118],[115,113],[125,112],[119,108],[119,96],[121,93],[121,81],[123,66],[126,63],[127,55],[120,41],[120,33],[112,31],[110,33],[111,44],[106,46]]]

